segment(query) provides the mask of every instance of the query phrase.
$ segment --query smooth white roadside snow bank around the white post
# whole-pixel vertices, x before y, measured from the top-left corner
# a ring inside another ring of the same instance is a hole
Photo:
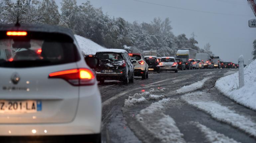
[[[256,110],[256,60],[244,68],[244,87],[239,89],[238,72],[222,77],[215,87],[232,100]]]

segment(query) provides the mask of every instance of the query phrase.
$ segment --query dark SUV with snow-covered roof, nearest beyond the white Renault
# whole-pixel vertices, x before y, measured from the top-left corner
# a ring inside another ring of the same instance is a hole
[[[95,57],[99,59],[96,77],[101,84],[104,83],[104,80],[119,80],[124,84],[133,82],[134,67],[125,50],[104,49],[98,51]]]

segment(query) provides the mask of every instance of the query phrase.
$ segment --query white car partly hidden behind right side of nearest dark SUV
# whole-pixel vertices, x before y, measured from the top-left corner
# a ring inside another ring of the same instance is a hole
[[[142,79],[148,78],[148,64],[144,56],[140,53],[129,53],[134,66],[134,76],[141,76]]]

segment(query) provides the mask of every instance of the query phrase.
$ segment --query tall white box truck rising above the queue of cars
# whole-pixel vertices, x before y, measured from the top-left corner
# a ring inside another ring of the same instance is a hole
[[[186,48],[178,50],[176,53],[176,58],[184,58],[184,59],[195,59],[196,50]]]

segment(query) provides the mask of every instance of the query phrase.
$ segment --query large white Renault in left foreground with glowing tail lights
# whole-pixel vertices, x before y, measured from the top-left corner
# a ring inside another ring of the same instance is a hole
[[[0,142],[100,143],[101,95],[90,70],[98,60],[85,61],[69,29],[0,27],[0,47],[25,49],[0,59]]]

